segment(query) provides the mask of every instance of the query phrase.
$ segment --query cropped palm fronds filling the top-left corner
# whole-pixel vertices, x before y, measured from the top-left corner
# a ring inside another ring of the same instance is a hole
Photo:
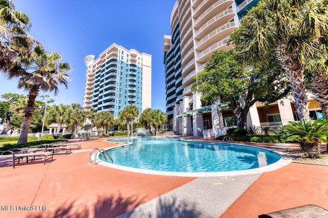
[[[33,39],[28,35],[31,21],[22,11],[14,8],[11,0],[0,1],[0,70],[6,72],[14,65],[19,53],[29,52],[29,42]],[[17,45],[27,47],[17,47]],[[12,45],[15,49],[11,48]]]

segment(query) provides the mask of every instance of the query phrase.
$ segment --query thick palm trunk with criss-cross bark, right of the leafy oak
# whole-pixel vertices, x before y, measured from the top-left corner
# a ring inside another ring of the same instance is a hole
[[[278,58],[282,63],[283,69],[289,77],[289,83],[293,91],[294,103],[299,119],[310,119],[308,95],[306,93],[306,79],[304,78],[304,70],[297,63],[295,55],[286,53],[286,44],[280,42],[277,48]]]

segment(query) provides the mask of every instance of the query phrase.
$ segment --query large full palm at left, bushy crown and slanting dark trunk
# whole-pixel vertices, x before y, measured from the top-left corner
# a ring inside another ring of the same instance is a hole
[[[18,89],[24,88],[29,93],[18,144],[27,142],[30,119],[35,111],[34,102],[39,91],[52,91],[56,95],[59,84],[64,84],[67,88],[70,77],[66,72],[70,69],[68,62],[61,62],[59,53],[48,53],[37,45],[30,57],[18,60],[16,65],[6,72],[8,78],[19,78]]]

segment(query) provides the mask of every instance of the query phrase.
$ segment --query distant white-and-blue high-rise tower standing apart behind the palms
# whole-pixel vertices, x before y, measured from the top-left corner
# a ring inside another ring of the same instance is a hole
[[[113,43],[97,59],[94,57],[85,58],[85,110],[92,107],[118,117],[128,104],[135,104],[140,113],[151,107],[151,55]]]

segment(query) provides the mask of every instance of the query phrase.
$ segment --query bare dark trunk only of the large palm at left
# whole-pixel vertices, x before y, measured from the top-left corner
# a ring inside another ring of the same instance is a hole
[[[22,130],[20,131],[20,136],[19,136],[17,144],[27,142],[27,135],[29,133],[29,127],[30,127],[30,120],[35,111],[34,102],[35,102],[35,99],[36,99],[38,93],[39,93],[39,86],[32,86],[29,90],[29,94],[28,94],[29,100],[27,101],[27,106],[24,111],[25,119],[23,122]]]

